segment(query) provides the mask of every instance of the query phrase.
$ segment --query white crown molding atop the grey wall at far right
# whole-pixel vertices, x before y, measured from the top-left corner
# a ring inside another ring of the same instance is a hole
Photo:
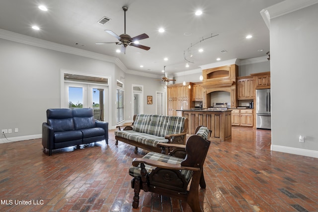
[[[260,11],[266,25],[270,28],[270,19],[294,12],[318,3],[318,0],[284,0]]]

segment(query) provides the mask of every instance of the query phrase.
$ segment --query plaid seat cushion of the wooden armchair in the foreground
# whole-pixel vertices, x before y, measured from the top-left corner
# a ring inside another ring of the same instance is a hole
[[[173,157],[173,156],[169,156],[169,155],[165,155],[165,154],[160,154],[160,153],[157,153],[157,152],[149,152],[143,158],[148,158],[148,159],[151,159],[151,160],[162,161],[162,162],[166,162],[166,163],[170,163],[170,164],[180,164],[181,161],[184,160],[182,158]],[[152,172],[153,169],[155,169],[157,167],[145,164],[145,168],[146,168],[147,172],[150,173],[150,172]],[[141,172],[140,164],[137,167],[131,166],[129,168],[129,175],[130,176],[133,176],[133,177],[141,176],[140,172]],[[180,170],[180,173],[182,175],[184,175],[185,180],[187,182],[189,182],[191,177],[192,177],[193,171]]]

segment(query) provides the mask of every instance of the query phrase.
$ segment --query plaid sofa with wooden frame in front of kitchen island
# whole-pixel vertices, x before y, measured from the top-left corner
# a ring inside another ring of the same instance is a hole
[[[119,129],[115,131],[116,145],[118,141],[123,141],[134,145],[135,153],[138,152],[138,147],[161,152],[160,147],[157,147],[159,142],[185,144],[188,119],[180,116],[138,114],[134,116],[131,126],[121,125],[116,128]]]

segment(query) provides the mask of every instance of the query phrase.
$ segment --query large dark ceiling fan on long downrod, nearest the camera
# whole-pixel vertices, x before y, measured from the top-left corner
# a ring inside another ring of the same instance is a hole
[[[144,45],[140,45],[137,43],[137,41],[139,40],[143,40],[143,39],[146,39],[146,38],[149,38],[149,36],[145,33],[141,34],[141,35],[137,35],[135,37],[131,37],[130,35],[126,34],[126,11],[128,10],[128,7],[127,6],[123,6],[122,9],[124,10],[124,19],[125,19],[125,22],[124,22],[124,26],[125,26],[125,32],[124,34],[121,34],[121,35],[117,35],[116,33],[114,33],[113,31],[111,30],[105,30],[105,32],[109,33],[110,35],[114,36],[115,38],[117,38],[119,40],[119,42],[103,42],[103,43],[96,43],[96,44],[107,44],[107,43],[115,43],[117,45],[122,45],[121,47],[121,52],[126,52],[126,47],[127,46],[134,46],[134,47],[137,47],[137,48],[140,48],[140,49],[144,49],[144,50],[150,50],[150,47],[148,46],[144,46]]]

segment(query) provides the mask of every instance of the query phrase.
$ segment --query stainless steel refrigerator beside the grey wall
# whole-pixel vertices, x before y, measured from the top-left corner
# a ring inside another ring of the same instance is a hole
[[[256,90],[256,128],[271,129],[270,89]]]

